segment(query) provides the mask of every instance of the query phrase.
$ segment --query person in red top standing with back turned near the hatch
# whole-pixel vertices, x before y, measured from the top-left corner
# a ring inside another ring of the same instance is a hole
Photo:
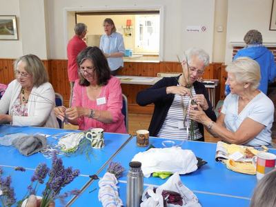
[[[70,39],[67,45],[67,58],[68,58],[68,79],[70,81],[70,101],[72,102],[72,92],[75,81],[79,78],[77,73],[77,55],[81,50],[87,48],[83,38],[86,37],[87,26],[84,23],[77,23],[75,28],[75,36]]]

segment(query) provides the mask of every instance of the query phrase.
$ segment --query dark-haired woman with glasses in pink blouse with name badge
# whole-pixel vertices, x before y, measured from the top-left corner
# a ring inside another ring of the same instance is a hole
[[[97,47],[88,47],[77,57],[79,80],[72,97],[72,108],[55,108],[56,116],[79,125],[80,130],[103,128],[105,132],[126,133],[121,113],[120,81],[110,75],[106,57]]]

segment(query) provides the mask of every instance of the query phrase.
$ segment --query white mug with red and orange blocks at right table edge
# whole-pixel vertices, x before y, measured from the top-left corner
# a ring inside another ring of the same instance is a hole
[[[257,179],[262,179],[267,172],[275,169],[276,155],[269,152],[259,152],[253,157],[253,164],[256,167]]]

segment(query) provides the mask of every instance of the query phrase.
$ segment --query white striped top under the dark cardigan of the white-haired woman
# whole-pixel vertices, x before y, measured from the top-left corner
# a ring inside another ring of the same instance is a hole
[[[195,89],[192,90],[193,96],[196,95]],[[183,97],[184,104],[182,103],[181,96],[175,95],[175,98],[172,101],[172,105],[170,106],[170,109],[168,110],[168,114],[166,116],[166,119],[159,130],[157,137],[164,137],[164,138],[170,138],[170,139],[188,139],[188,140],[196,140],[200,139],[202,137],[201,132],[199,132],[199,128],[197,126],[197,122],[193,121],[194,123],[194,136],[187,136],[187,126],[191,126],[191,120],[188,115],[184,121],[184,112],[183,110],[188,109],[188,104],[190,101],[190,97],[184,96]],[[183,109],[184,106],[184,109]],[[190,128],[189,134],[190,134]]]

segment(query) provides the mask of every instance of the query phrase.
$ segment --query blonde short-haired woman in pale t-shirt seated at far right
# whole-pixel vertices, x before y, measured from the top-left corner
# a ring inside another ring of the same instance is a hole
[[[230,63],[226,71],[226,84],[230,94],[216,122],[210,120],[200,106],[190,108],[193,119],[231,144],[271,147],[273,102],[258,88],[261,79],[259,64],[248,57],[240,57]]]

